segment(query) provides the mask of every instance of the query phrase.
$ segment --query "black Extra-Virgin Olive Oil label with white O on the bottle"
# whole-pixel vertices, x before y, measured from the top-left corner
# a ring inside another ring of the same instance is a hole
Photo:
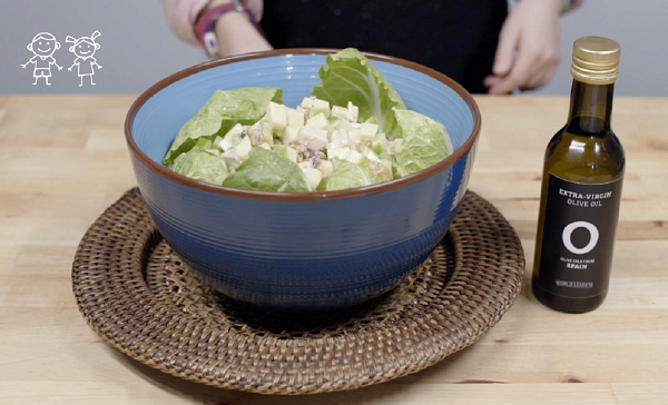
[[[608,289],[621,199],[621,178],[572,182],[549,175],[539,286],[572,298]]]

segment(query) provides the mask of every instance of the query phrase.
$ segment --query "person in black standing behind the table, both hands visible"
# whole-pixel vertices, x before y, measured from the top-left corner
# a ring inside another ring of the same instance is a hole
[[[521,0],[509,13],[505,0],[244,0],[249,16],[226,12],[214,22],[218,47],[210,56],[353,47],[425,65],[470,92],[508,93],[552,79],[561,59],[559,16],[583,1]],[[202,32],[212,22],[203,19],[225,3],[233,1],[163,0],[173,31],[205,48],[213,32]]]

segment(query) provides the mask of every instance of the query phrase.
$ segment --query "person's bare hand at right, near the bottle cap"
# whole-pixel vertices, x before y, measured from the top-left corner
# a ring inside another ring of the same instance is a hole
[[[501,29],[493,75],[484,79],[491,95],[546,86],[561,61],[559,16],[562,0],[522,0]],[[517,55],[515,55],[517,52]]]

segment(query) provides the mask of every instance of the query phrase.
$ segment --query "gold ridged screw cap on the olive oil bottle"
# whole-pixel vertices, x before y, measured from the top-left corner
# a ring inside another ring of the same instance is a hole
[[[583,37],[573,43],[571,75],[590,85],[610,85],[619,77],[621,47],[602,37]]]

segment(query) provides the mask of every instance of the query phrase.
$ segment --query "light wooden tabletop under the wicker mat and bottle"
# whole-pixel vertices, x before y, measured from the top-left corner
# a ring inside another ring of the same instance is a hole
[[[527,283],[472,347],[391,383],[307,397],[180,381],[121,355],[79,315],[70,279],[77,245],[135,185],[122,132],[132,100],[0,97],[1,404],[668,404],[668,99],[616,100],[628,168],[602,307],[556,313]],[[542,154],[568,99],[478,101],[483,131],[470,188],[517,228],[529,274]]]

